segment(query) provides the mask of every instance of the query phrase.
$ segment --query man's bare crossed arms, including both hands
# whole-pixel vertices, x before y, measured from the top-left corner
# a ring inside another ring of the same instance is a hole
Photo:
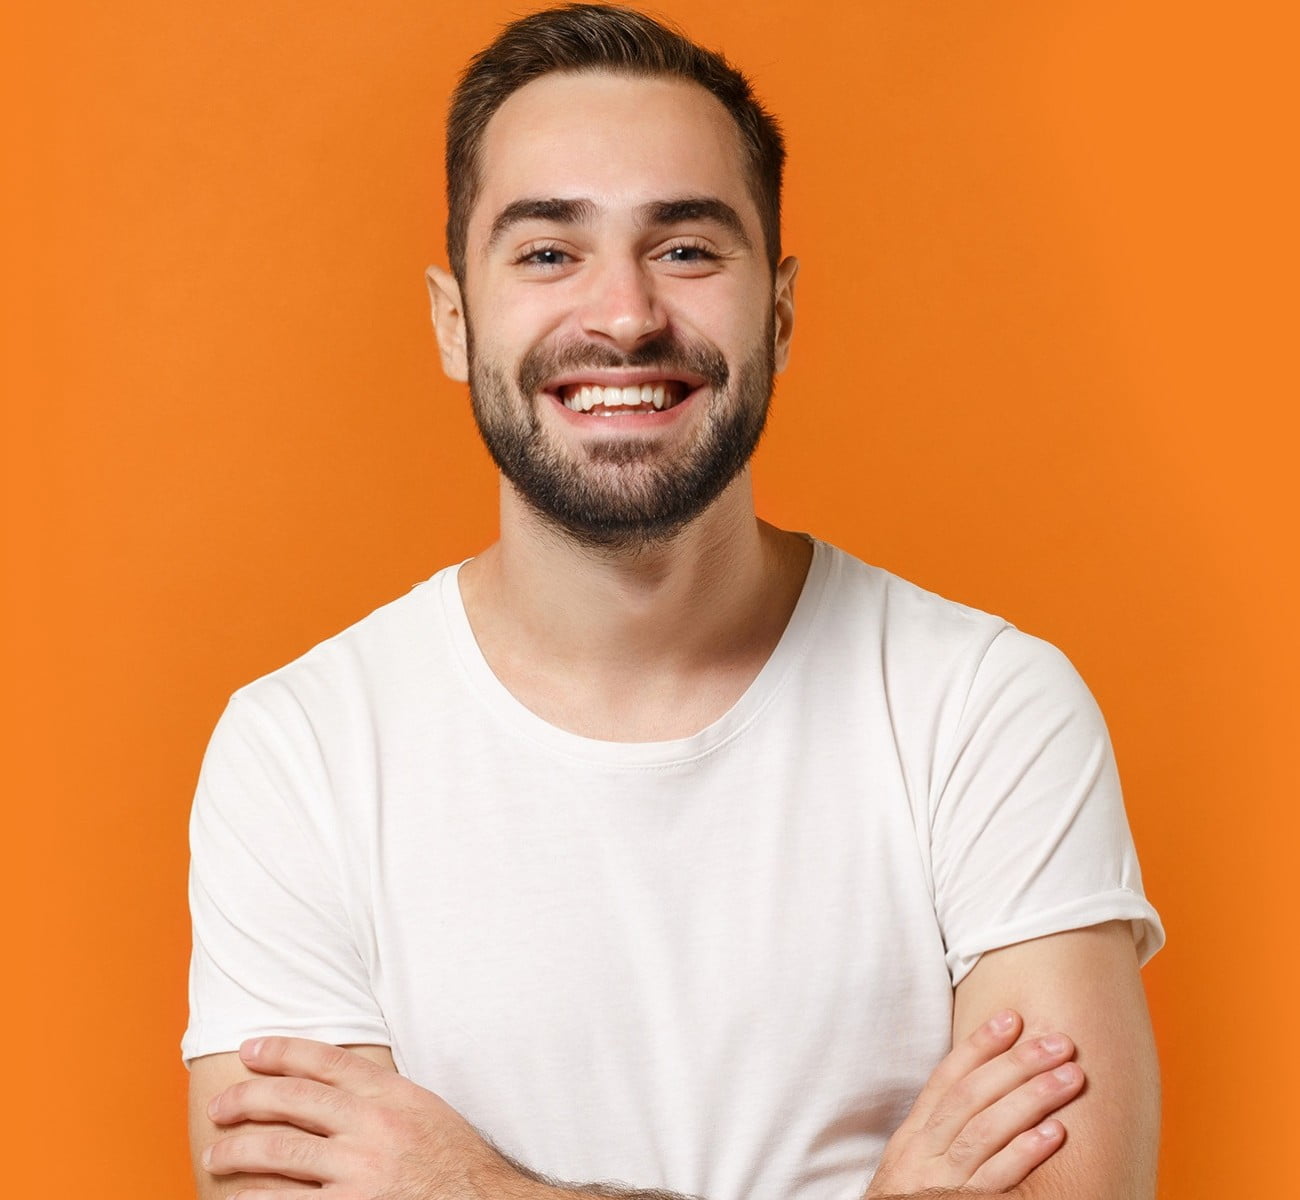
[[[1023,1028],[1019,1018],[1002,1030],[984,1023],[1001,1009],[1023,1014]],[[1044,1045],[1056,1030],[1074,1043]],[[985,954],[957,988],[953,1040],[866,1200],[1154,1193],[1158,1079],[1126,923]],[[385,1047],[265,1039],[242,1056],[198,1060],[190,1097],[200,1200],[307,1200],[321,1183],[338,1200],[680,1200],[534,1174],[396,1075]]]

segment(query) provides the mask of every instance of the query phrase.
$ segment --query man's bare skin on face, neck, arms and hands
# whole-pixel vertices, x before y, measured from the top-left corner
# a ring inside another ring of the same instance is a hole
[[[647,220],[682,196],[716,200],[736,221]],[[511,205],[537,199],[584,203],[577,218],[569,205],[563,220],[534,212],[502,229]],[[768,269],[729,117],[694,85],[584,74],[521,88],[486,131],[468,250],[464,289],[430,270],[445,369],[490,380],[497,417],[534,429],[610,497],[671,475],[719,410],[754,395],[702,386],[663,419],[580,417],[546,380],[519,387],[530,354],[598,347],[581,368],[593,381],[664,334],[712,347],[731,378],[757,354],[777,371],[788,360],[798,264]],[[467,313],[478,315],[472,339]],[[489,664],[534,712],[588,737],[666,740],[715,720],[749,686],[809,558],[806,541],[757,519],[748,469],[685,527],[612,547],[567,530],[503,478],[500,538],[465,564],[460,586]],[[1063,1028],[1076,1043],[1054,1032]],[[1158,1083],[1127,926],[985,954],[956,989],[953,1034],[871,1200],[958,1187],[1032,1200],[1153,1195]],[[320,1184],[338,1200],[577,1195],[502,1158],[402,1079],[382,1047],[269,1037],[200,1058],[191,1140],[204,1200],[306,1197]]]

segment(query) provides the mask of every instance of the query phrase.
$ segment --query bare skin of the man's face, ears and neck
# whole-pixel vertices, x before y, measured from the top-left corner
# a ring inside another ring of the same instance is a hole
[[[447,373],[469,377],[467,309],[491,313],[474,324],[476,363],[507,377],[537,345],[590,342],[632,355],[664,330],[716,347],[733,376],[771,337],[775,368],[784,368],[798,263],[786,259],[775,278],[768,269],[736,138],[720,104],[675,81],[551,75],[511,96],[484,142],[464,294],[430,272]],[[590,200],[592,218],[523,222],[490,239],[511,204],[551,196]],[[681,196],[722,202],[744,238],[718,222],[638,220],[644,205]],[[715,257],[666,261],[682,244]],[[538,248],[562,252],[563,265],[519,264]],[[693,399],[654,429],[634,416],[573,420],[542,397],[515,403],[569,462],[608,481],[614,471],[594,455],[619,441],[650,442],[647,462],[671,472],[701,437],[712,399]],[[623,475],[634,486],[638,467]],[[465,564],[460,585],[489,664],[520,701],[585,736],[645,741],[692,733],[734,703],[780,638],[809,558],[803,540],[758,521],[748,469],[671,541],[616,556],[564,537],[503,480],[500,540]],[[601,621],[588,619],[593,611]],[[675,615],[671,638],[664,612]]]

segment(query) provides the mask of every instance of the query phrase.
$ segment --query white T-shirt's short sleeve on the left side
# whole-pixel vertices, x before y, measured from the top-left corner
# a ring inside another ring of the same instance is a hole
[[[260,686],[218,722],[190,819],[186,1062],[263,1034],[390,1040],[344,902],[320,748],[292,696]]]

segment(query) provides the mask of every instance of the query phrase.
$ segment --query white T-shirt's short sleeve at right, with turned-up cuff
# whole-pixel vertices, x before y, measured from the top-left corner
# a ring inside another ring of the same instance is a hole
[[[931,844],[954,985],[987,950],[1108,920],[1131,922],[1141,962],[1160,949],[1110,738],[1065,655],[998,633],[944,766]]]

